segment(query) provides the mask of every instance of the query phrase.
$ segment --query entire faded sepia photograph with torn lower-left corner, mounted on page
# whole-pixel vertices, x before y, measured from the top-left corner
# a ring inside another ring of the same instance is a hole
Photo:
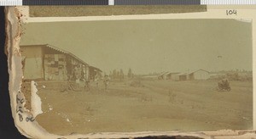
[[[21,92],[33,116],[26,120],[55,135],[253,130],[252,23],[26,23]]]

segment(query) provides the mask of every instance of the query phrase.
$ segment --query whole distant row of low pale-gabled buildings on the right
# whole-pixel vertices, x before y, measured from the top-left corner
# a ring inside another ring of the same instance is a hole
[[[164,72],[158,75],[159,80],[173,80],[173,81],[193,81],[193,80],[208,80],[210,72],[205,69],[198,69],[192,72]]]

